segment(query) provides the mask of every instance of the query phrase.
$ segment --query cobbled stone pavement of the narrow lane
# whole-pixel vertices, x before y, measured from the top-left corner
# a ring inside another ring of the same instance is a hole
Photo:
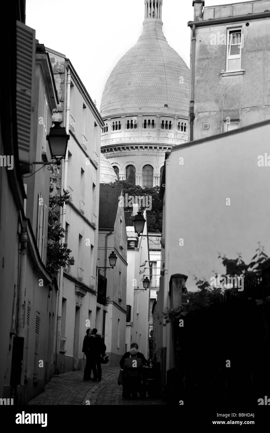
[[[45,391],[27,404],[85,405],[166,405],[166,402],[146,397],[145,400],[124,400],[123,388],[117,385],[119,367],[102,365],[101,382],[83,381],[83,370],[54,375]]]

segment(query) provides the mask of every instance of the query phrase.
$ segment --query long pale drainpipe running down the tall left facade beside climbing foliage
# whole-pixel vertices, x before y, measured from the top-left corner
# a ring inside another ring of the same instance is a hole
[[[66,106],[66,118],[65,118],[65,132],[68,134],[69,131],[69,104],[70,104],[70,69],[68,68],[67,74],[67,106]],[[65,154],[65,162],[64,162],[64,190],[67,189],[68,183],[68,145],[67,151]],[[62,227],[65,229],[65,220],[66,220],[66,204],[63,206],[62,213]],[[65,238],[62,238],[62,244],[65,243]],[[56,335],[56,362],[55,368],[57,368],[57,361],[59,357],[59,349],[60,349],[60,333],[61,333],[61,316],[62,316],[62,299],[63,299],[63,275],[64,268],[60,268],[60,278],[59,278],[59,298],[58,298],[58,313],[57,313],[57,335]]]

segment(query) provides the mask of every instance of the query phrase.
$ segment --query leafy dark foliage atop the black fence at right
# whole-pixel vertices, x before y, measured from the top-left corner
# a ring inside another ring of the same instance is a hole
[[[228,259],[226,255],[222,256],[218,253],[218,258],[222,260],[222,264],[226,268],[226,273],[221,275],[221,277],[244,277],[244,284],[247,286],[259,284],[262,275],[262,265],[268,259],[268,256],[265,254],[260,242],[258,244],[259,247],[256,249],[256,254],[252,257],[250,263],[247,264],[243,261],[241,253],[238,254],[237,259]],[[217,273],[215,273],[215,277],[217,277]],[[198,279],[196,276],[194,278],[199,291],[188,292],[185,288],[182,293],[182,304],[177,308],[168,309],[164,312],[165,323],[179,320],[192,311],[208,307],[214,301],[217,301],[218,298],[224,297],[225,292],[236,293],[237,291],[235,287],[212,287],[205,278]]]

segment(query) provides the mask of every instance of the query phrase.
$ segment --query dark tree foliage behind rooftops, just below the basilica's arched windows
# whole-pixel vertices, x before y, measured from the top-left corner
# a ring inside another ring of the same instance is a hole
[[[147,227],[149,233],[162,233],[162,212],[163,201],[159,198],[159,187],[142,188],[139,185],[133,185],[126,181],[118,181],[117,183],[123,185],[123,196],[128,194],[132,197],[152,197],[152,209],[147,210]],[[145,208],[141,208],[144,210]],[[146,207],[147,209],[147,207]],[[124,210],[131,210],[130,207],[125,207]]]

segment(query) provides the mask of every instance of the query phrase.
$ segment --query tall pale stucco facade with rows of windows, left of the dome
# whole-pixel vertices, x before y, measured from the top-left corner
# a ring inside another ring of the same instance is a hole
[[[96,323],[96,265],[100,136],[103,122],[87,90],[65,55],[46,48],[59,94],[54,119],[70,135],[62,170],[52,174],[51,194],[70,198],[62,211],[68,248],[74,265],[59,272],[56,368],[62,373],[83,367],[82,343],[87,327]]]

